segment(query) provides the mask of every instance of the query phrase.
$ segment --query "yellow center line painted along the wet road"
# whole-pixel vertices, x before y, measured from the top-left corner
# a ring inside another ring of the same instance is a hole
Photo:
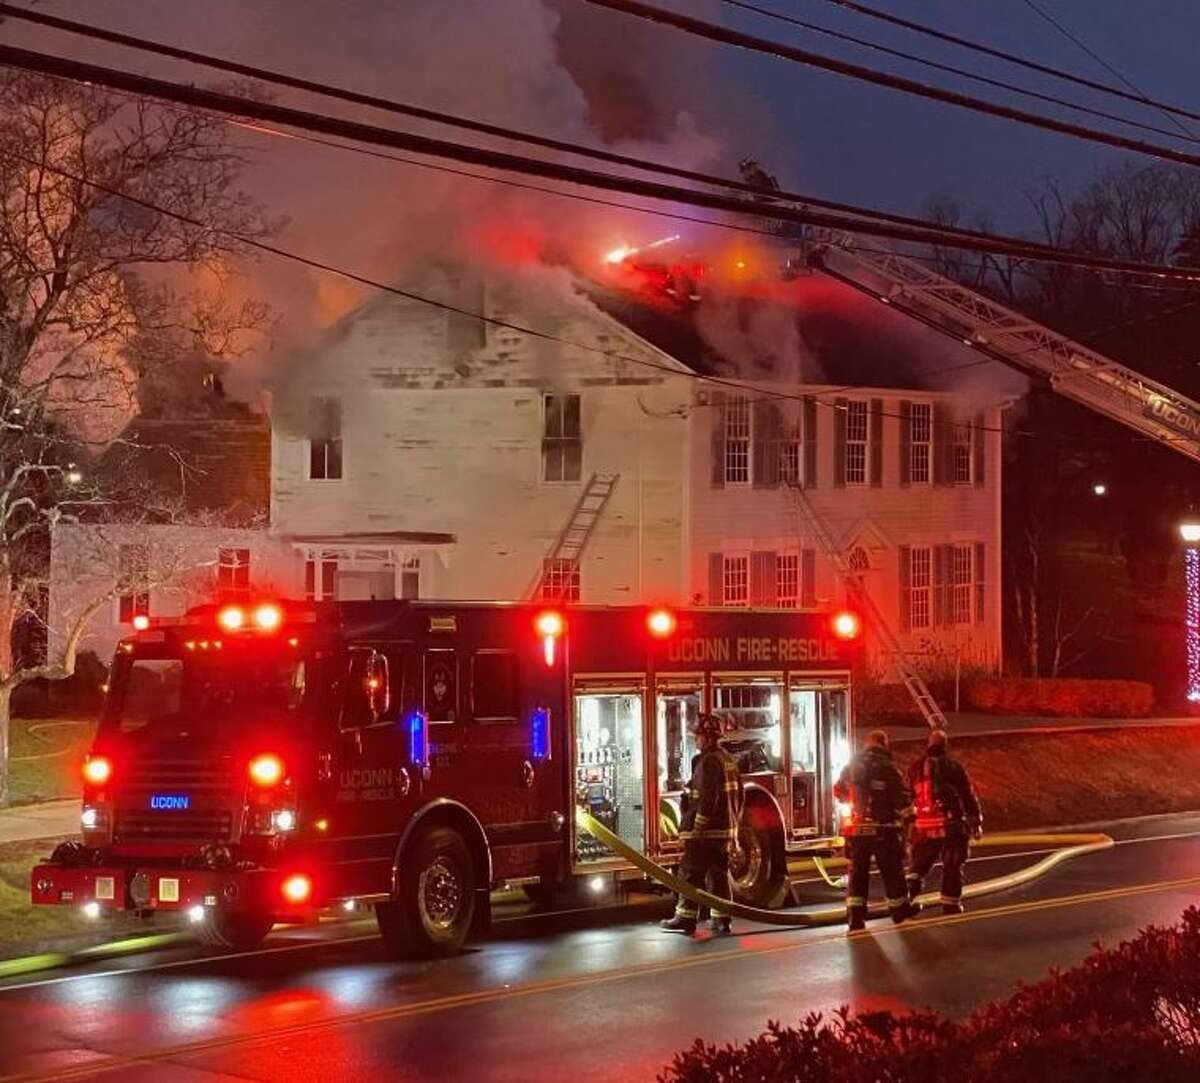
[[[874,933],[870,931],[856,933],[851,940],[872,935],[914,934],[940,928],[942,926],[966,925],[968,922],[988,921],[995,917],[1008,917],[1040,910],[1086,905],[1090,903],[1104,903],[1117,898],[1130,898],[1162,891],[1193,887],[1200,887],[1200,876],[1183,876],[1176,880],[1158,880],[1148,884],[1136,884],[1129,887],[1112,887],[1100,891],[1080,892],[1078,894],[1056,896],[1049,899],[1031,899],[1025,903],[1010,903],[1006,907],[990,907],[984,910],[976,910],[966,914],[922,919],[917,922],[906,922],[901,926],[894,926],[884,922],[882,927],[877,928]],[[544,993],[559,992],[563,989],[606,985],[610,982],[624,981],[632,977],[643,977],[666,971],[694,970],[701,967],[712,967],[719,963],[733,962],[736,959],[757,959],[763,956],[818,947],[835,941],[844,941],[845,939],[845,934],[840,932],[836,934],[812,935],[799,941],[768,945],[752,951],[748,951],[744,947],[734,947],[725,951],[707,952],[703,956],[696,956],[692,958],[665,959],[660,963],[623,967],[616,970],[601,971],[599,974],[577,974],[570,977],[553,979],[542,982],[529,982],[523,986],[512,986],[509,988],[502,987],[478,989],[470,993],[456,993],[448,997],[437,997],[430,1000],[416,1001],[414,1004],[400,1004],[389,1007],[372,1009],[370,1011],[347,1012],[332,1018],[313,1019],[307,1023],[277,1027],[270,1030],[256,1031],[253,1034],[234,1034],[200,1042],[182,1043],[163,1049],[155,1049],[145,1054],[118,1053],[113,1054],[108,1060],[90,1065],[78,1065],[72,1069],[58,1069],[52,1072],[0,1076],[0,1083],[34,1083],[34,1081],[50,1079],[85,1079],[90,1076],[106,1075],[124,1067],[161,1064],[175,1058],[191,1058],[202,1053],[215,1052],[235,1046],[274,1042],[281,1039],[302,1036],[305,1034],[330,1030],[340,1027],[361,1027],[370,1023],[403,1019],[414,1016],[430,1015],[432,1012],[449,1011],[458,1007],[473,1007],[475,1005],[487,1004],[491,1001],[515,1000]]]

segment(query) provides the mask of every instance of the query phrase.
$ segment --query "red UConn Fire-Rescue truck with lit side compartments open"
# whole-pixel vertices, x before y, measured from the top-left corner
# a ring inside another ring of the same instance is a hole
[[[139,622],[83,766],[82,839],[32,898],[180,911],[246,949],[281,921],[373,905],[397,953],[486,928],[490,892],[551,900],[635,870],[576,803],[678,860],[701,711],[746,783],[734,878],[787,891],[836,833],[850,755],[851,614],[503,603],[263,602]]]

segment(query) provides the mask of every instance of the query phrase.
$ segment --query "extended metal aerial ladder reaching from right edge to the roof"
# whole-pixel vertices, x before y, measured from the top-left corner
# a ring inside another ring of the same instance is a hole
[[[857,244],[852,234],[826,233],[809,261],[997,361],[1044,376],[1060,395],[1200,461],[1200,403],[913,259],[851,251]]]

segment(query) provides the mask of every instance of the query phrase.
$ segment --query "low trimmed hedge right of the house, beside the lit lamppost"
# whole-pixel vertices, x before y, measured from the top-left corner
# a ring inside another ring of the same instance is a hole
[[[1140,681],[976,677],[962,686],[962,700],[985,713],[1145,718],[1154,706],[1154,689]]]

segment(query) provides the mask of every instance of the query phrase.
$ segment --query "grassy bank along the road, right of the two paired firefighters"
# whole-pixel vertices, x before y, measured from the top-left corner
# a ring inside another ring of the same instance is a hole
[[[920,741],[896,741],[907,767]],[[950,738],[988,831],[1200,809],[1200,724]]]

